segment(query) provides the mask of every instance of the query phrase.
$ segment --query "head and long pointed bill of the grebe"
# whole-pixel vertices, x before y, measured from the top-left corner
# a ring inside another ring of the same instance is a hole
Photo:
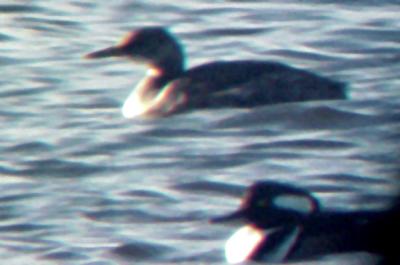
[[[178,41],[163,27],[145,27],[128,33],[116,46],[87,54],[89,59],[112,56],[129,58],[153,67],[183,64]]]

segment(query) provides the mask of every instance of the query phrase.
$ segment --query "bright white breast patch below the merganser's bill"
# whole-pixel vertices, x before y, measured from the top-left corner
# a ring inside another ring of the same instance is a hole
[[[228,263],[237,264],[248,260],[264,236],[264,231],[251,225],[240,228],[226,242],[225,258]]]

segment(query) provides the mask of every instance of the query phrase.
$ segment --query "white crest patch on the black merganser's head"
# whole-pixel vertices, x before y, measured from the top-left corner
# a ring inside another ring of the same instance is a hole
[[[310,214],[314,211],[314,204],[307,196],[302,195],[281,195],[272,201],[277,208],[295,211],[300,214]]]

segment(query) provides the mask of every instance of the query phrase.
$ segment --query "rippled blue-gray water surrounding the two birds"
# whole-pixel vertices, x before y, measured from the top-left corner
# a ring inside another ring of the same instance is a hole
[[[224,264],[236,227],[207,219],[260,179],[327,209],[382,207],[400,147],[399,13],[394,0],[3,1],[0,260]],[[145,68],[82,56],[144,25],[169,26],[189,66],[282,61],[347,82],[350,100],[126,120]]]

